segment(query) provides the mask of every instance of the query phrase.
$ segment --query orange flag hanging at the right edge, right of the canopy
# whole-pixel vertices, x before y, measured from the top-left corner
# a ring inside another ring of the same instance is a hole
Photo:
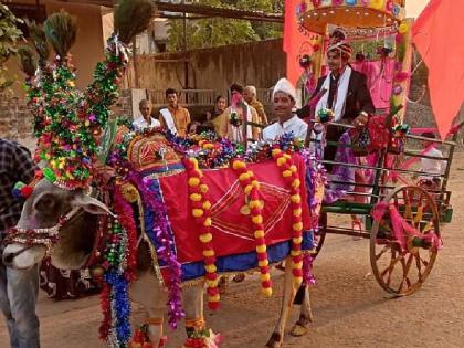
[[[442,139],[464,102],[463,0],[431,0],[412,28],[429,67],[432,109]]]

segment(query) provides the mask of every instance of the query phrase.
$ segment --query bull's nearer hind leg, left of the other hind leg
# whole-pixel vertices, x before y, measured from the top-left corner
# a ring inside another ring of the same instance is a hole
[[[274,333],[271,335],[266,347],[281,347],[284,340],[284,330],[287,323],[288,314],[292,309],[293,299],[295,298],[295,288],[293,285],[292,276],[292,259],[287,257],[285,261],[285,277],[284,277],[284,297],[282,298],[281,316],[278,317],[277,325]]]

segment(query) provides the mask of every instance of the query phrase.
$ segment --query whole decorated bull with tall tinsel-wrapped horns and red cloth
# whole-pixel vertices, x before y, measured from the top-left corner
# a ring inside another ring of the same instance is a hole
[[[108,116],[127,65],[126,43],[146,28],[151,11],[149,0],[119,1],[117,34],[85,93],[74,87],[67,54],[72,19],[53,14],[44,33],[35,32],[40,73],[28,65],[31,57],[23,67],[35,156],[44,167],[32,183],[15,187],[25,202],[3,262],[29,268],[50,253],[61,268],[92,266],[103,281],[101,336],[112,347],[129,342],[129,293],[148,312],[146,338],[155,347],[162,345],[166,303],[171,327],[186,317],[186,347],[214,347],[218,339],[203,319],[204,285],[214,309],[219,274],[256,268],[262,293],[272,296],[270,265],[285,260],[281,316],[267,342],[278,347],[296,288],[310,281],[306,160],[289,139],[249,151],[226,140],[159,131],[115,139]],[[45,36],[56,53],[53,64],[46,63]],[[97,158],[106,164],[99,169]],[[307,286],[300,288],[295,335],[312,318]]]

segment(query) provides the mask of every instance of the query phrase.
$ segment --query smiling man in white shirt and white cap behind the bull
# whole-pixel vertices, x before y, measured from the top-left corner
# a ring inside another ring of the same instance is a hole
[[[278,120],[263,130],[263,139],[276,140],[284,134],[305,140],[308,125],[293,113],[296,103],[296,91],[286,78],[281,78],[272,93],[273,109]]]

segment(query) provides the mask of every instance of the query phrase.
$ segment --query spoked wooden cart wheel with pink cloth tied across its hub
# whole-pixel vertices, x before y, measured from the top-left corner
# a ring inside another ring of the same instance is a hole
[[[433,198],[419,187],[401,187],[384,200],[394,204],[401,218],[418,233],[435,233],[440,240],[440,220]],[[390,213],[375,221],[370,234],[370,264],[377,282],[396,296],[410,295],[425,282],[435,263],[437,245],[404,233],[405,247],[393,235]]]

